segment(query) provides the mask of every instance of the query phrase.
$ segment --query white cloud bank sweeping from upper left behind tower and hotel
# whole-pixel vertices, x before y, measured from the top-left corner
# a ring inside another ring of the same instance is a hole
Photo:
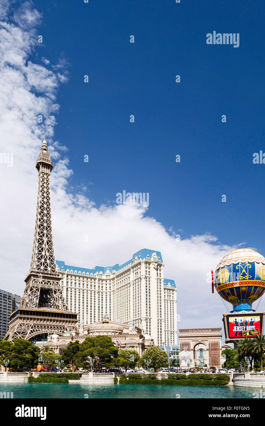
[[[20,295],[24,291],[37,200],[34,167],[46,132],[52,159],[57,161],[51,175],[56,259],[92,268],[122,264],[141,248],[159,250],[165,262],[165,277],[175,279],[178,287],[179,327],[220,326],[224,307],[219,296],[211,294],[206,276],[232,248],[219,244],[217,237],[209,234],[176,242],[173,228],[168,233],[141,206],[113,203],[97,208],[84,196],[81,183],[80,193],[66,192],[73,174],[71,160],[62,158],[67,147],[52,139],[54,114],[59,111],[56,95],[62,81],[56,69],[65,63],[59,62],[50,71],[26,62],[36,49],[34,22],[40,20],[40,14],[26,2],[14,23],[5,18],[7,8],[7,2],[0,0],[4,19],[0,25],[0,151],[14,153],[14,166],[0,164],[0,287]],[[49,61],[43,62],[47,65]],[[44,117],[43,124],[37,123],[39,114]],[[85,235],[89,242],[85,242]]]

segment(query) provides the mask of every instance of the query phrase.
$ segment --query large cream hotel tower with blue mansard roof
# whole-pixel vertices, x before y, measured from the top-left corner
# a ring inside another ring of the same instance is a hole
[[[132,322],[154,339],[155,345],[177,344],[177,289],[164,278],[161,253],[142,249],[123,265],[93,269],[56,261],[70,311],[79,323],[103,320],[105,312],[117,322]]]

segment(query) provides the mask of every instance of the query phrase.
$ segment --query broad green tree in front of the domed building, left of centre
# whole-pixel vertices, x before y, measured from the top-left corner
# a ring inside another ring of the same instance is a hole
[[[110,363],[116,358],[118,349],[109,336],[87,337],[80,345],[79,360],[91,357],[95,360],[94,366],[99,371],[100,365]]]

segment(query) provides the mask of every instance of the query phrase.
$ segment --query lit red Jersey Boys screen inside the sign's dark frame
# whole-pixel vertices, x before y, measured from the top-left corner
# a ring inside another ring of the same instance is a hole
[[[229,316],[229,337],[251,337],[260,334],[260,316],[233,315]]]

